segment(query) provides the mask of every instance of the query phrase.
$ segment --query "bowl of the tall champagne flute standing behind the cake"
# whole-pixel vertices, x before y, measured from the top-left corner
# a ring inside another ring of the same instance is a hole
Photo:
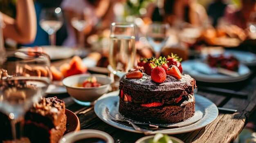
[[[121,77],[133,68],[135,62],[135,25],[112,23],[110,27],[109,66]]]

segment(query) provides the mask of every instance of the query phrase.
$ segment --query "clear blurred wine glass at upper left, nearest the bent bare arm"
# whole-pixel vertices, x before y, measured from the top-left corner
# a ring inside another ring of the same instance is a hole
[[[52,46],[56,45],[56,31],[63,25],[61,8],[42,9],[39,16],[41,28],[49,34],[49,41]]]

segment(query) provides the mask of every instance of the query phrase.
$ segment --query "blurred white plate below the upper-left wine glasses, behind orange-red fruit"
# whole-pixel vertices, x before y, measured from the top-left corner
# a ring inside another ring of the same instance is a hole
[[[75,55],[75,50],[66,46],[40,46],[43,48],[43,52],[50,56],[50,59],[66,59]],[[26,49],[28,47],[22,47]]]

